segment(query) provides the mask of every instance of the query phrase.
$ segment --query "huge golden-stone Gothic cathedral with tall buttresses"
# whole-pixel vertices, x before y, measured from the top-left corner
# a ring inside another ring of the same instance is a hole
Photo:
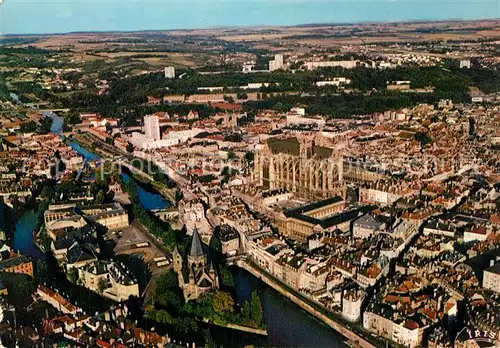
[[[343,158],[311,139],[269,139],[255,154],[254,179],[310,200],[345,197]]]

